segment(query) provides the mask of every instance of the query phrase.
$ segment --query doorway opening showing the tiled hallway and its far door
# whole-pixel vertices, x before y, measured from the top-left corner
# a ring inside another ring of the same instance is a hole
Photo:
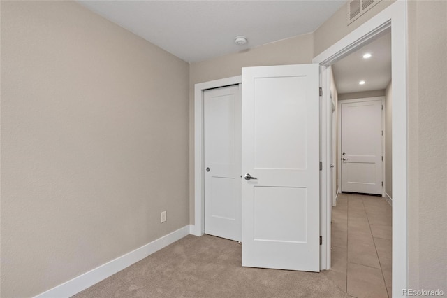
[[[392,187],[386,173],[391,166],[391,152],[386,152],[391,148],[386,140],[392,100],[390,29],[333,64],[331,71],[337,101],[337,170],[332,173],[337,190],[328,276],[349,295],[391,297],[392,208],[385,198],[386,187],[388,193]],[[365,274],[374,278],[362,281]]]

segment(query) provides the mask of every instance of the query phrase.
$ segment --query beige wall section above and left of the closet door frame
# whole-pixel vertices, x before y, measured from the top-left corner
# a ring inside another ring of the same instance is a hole
[[[312,63],[313,35],[284,39],[251,50],[192,63],[189,71],[189,221],[194,223],[194,85],[240,76],[242,67]]]

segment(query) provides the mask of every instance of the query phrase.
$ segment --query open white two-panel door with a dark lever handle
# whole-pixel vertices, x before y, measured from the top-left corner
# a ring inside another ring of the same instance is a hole
[[[242,69],[242,266],[319,271],[318,129],[318,64]]]

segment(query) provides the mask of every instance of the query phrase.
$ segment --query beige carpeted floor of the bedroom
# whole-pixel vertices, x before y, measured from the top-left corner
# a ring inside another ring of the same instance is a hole
[[[239,243],[189,235],[73,297],[349,295],[323,274],[241,267]]]

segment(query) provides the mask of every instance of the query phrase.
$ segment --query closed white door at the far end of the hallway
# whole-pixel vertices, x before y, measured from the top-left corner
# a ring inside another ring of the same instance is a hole
[[[342,191],[382,194],[383,99],[341,102]]]

